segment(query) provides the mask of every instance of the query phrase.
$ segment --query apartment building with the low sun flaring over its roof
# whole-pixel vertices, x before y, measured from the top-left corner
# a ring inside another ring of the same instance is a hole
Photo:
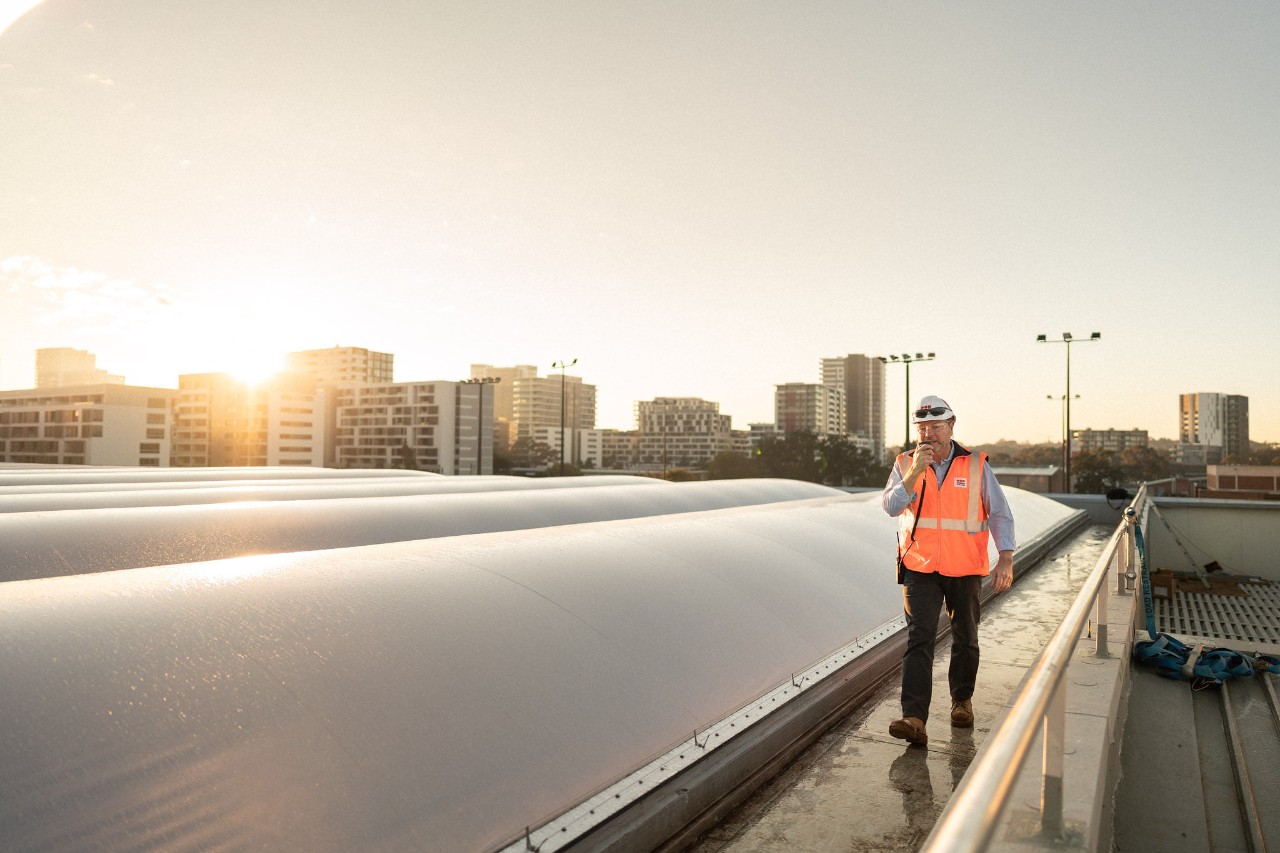
[[[298,374],[248,384],[225,373],[178,377],[177,467],[323,466],[325,392]]]

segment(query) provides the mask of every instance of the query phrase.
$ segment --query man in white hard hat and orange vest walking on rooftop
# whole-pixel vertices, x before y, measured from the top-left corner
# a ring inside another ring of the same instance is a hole
[[[1014,583],[1014,515],[987,456],[952,441],[956,416],[947,401],[924,397],[911,420],[919,444],[893,462],[881,498],[884,511],[899,519],[897,581],[906,615],[902,719],[891,722],[888,733],[924,745],[943,605],[951,620],[951,725],[973,726],[982,579],[992,574],[996,593]],[[988,530],[1000,552],[995,570]]]

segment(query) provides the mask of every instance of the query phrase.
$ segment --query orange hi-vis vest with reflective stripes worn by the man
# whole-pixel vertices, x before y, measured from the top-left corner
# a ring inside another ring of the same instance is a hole
[[[982,505],[982,466],[987,457],[960,444],[955,448],[941,484],[932,465],[916,480],[919,497],[899,516],[897,552],[911,571],[986,575],[991,571],[987,510]],[[899,455],[897,470],[906,473],[914,452]]]

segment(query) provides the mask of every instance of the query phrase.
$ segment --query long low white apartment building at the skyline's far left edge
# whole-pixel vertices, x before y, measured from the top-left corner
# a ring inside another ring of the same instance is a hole
[[[115,383],[0,391],[0,461],[165,467],[177,393]]]

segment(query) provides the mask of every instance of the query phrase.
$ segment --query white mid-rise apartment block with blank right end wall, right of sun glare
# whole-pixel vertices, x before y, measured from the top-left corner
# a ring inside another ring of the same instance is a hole
[[[338,387],[337,466],[493,474],[492,388],[449,380]]]

